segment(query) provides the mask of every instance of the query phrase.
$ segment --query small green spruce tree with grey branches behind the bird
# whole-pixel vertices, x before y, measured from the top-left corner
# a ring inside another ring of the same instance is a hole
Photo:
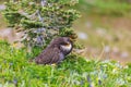
[[[10,0],[3,15],[9,26],[23,32],[26,47],[44,47],[56,36],[75,34],[71,28],[80,13],[69,7],[78,0]]]

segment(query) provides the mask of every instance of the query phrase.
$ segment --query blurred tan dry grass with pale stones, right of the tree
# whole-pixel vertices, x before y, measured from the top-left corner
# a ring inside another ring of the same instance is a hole
[[[82,17],[75,21],[73,28],[78,34],[85,33],[87,35],[87,39],[79,38],[80,44],[91,48],[91,51],[87,50],[85,55],[94,55],[97,51],[99,55],[107,46],[112,60],[123,63],[131,62],[130,18],[131,16],[102,16],[83,13]],[[116,48],[117,53],[114,53]],[[128,54],[124,58],[121,57],[123,52]]]

